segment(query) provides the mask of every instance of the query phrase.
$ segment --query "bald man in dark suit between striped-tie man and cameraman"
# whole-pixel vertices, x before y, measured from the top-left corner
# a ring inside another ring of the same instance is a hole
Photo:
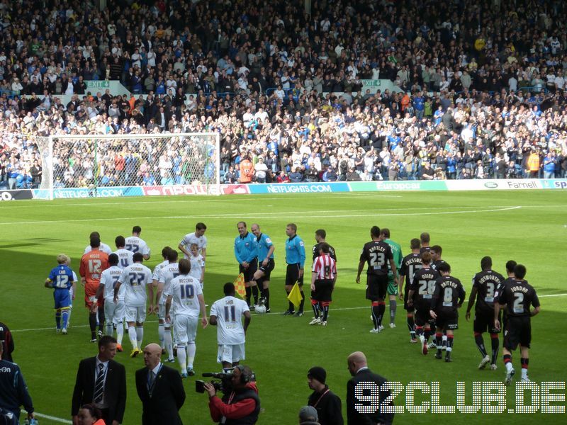
[[[144,348],[145,368],[136,370],[137,395],[142,400],[142,425],[182,425],[179,409],[185,402],[181,375],[165,365],[159,344]]]

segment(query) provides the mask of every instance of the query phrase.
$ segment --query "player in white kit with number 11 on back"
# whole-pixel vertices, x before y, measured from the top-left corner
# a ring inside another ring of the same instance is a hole
[[[217,327],[217,363],[222,363],[223,368],[232,368],[245,359],[246,329],[251,316],[246,301],[235,298],[234,283],[225,283],[223,291],[225,297],[210,307],[209,323]]]

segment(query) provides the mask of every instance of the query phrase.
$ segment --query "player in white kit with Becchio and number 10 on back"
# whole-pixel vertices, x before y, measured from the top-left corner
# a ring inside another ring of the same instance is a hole
[[[207,312],[201,283],[190,274],[191,262],[188,259],[179,261],[179,276],[169,282],[164,290],[165,320],[172,322],[171,311],[174,312],[173,329],[177,342],[177,361],[181,366],[181,378],[195,375],[193,361],[197,346],[197,323],[201,313],[201,325],[207,327]]]

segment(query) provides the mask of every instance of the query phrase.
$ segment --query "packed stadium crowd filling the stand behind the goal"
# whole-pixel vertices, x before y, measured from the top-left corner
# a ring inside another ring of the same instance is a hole
[[[563,2],[36,3],[0,4],[0,187],[40,186],[37,137],[153,132],[219,132],[227,183],[567,176]],[[56,147],[55,184],[206,177],[160,146]]]

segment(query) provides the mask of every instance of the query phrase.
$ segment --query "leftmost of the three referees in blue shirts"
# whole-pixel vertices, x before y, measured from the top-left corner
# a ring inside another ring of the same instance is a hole
[[[248,307],[254,309],[258,303],[258,287],[254,281],[254,273],[258,270],[256,237],[248,232],[245,222],[238,222],[237,227],[239,235],[235,238],[235,257],[240,264],[240,273],[244,274],[246,302]],[[252,292],[254,293],[254,305],[251,306]]]

